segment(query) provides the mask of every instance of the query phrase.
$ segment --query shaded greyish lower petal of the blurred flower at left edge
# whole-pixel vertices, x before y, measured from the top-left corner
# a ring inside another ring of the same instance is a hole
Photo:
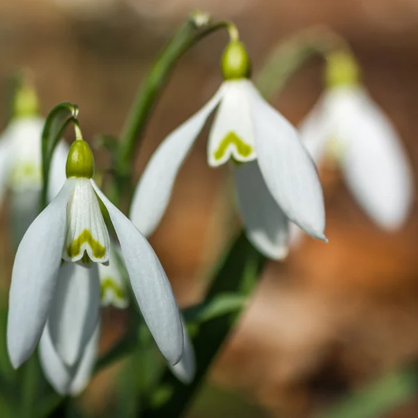
[[[11,232],[15,248],[22,240],[29,225],[38,216],[40,190],[12,190],[9,217],[11,219]]]

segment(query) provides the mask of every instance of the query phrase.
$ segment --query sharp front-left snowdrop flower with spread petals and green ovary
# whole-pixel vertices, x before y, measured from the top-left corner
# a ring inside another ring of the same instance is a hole
[[[65,167],[67,180],[17,249],[9,295],[10,360],[17,368],[31,355],[45,324],[67,366],[75,366],[86,350],[98,323],[95,263],[107,263],[110,256],[100,199],[118,236],[146,325],[167,361],[176,364],[183,353],[183,329],[167,276],[148,241],[95,184],[93,154],[75,127],[77,139]],[[84,270],[77,272],[80,265]]]

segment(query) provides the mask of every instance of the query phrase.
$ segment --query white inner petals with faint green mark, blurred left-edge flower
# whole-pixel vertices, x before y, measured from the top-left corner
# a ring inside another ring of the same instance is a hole
[[[10,123],[9,137],[13,143],[10,187],[15,190],[40,189],[42,118],[18,118]]]

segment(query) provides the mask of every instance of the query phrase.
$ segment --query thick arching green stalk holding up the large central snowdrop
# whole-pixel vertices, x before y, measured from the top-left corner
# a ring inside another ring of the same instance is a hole
[[[194,13],[180,27],[176,35],[162,50],[153,67],[139,87],[134,103],[127,116],[121,134],[121,142],[116,153],[116,173],[118,183],[121,180],[130,182],[132,157],[140,142],[150,111],[156,102],[157,95],[169,77],[174,65],[187,49],[196,42],[218,29],[227,29],[230,36],[235,36],[235,26],[228,21],[211,23],[207,15]]]

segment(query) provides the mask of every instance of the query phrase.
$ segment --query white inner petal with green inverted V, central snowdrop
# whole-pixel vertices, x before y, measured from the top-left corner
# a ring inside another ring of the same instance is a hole
[[[209,132],[208,164],[217,167],[231,157],[256,159],[247,79],[224,82],[224,96]]]

